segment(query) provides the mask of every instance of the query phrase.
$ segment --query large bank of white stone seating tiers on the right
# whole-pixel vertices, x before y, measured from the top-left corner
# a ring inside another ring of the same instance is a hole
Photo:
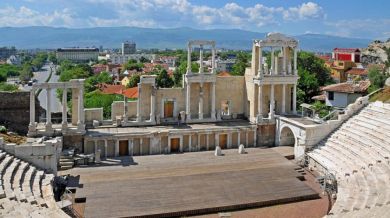
[[[369,104],[308,157],[311,167],[337,177],[337,200],[326,217],[390,217],[390,104]]]

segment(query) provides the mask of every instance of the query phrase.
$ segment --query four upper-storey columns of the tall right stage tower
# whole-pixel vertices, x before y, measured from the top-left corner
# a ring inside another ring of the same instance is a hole
[[[282,74],[283,75],[287,75],[288,74],[291,74],[291,71],[290,71],[290,68],[287,72],[286,70],[286,49],[287,49],[288,46],[283,46],[281,47],[282,48],[282,51],[283,51],[283,65],[282,65]],[[297,67],[297,56],[298,56],[298,49],[297,47],[295,46],[294,48],[294,75],[298,75],[298,67]],[[258,74],[257,76],[258,77],[262,77],[263,74],[268,74],[268,72],[264,72],[263,71],[263,48],[260,46],[259,47],[259,70],[258,70]],[[267,70],[265,70],[267,71]],[[271,74],[276,74],[275,72],[275,47],[274,46],[271,46],[271,69],[270,69],[270,72]]]

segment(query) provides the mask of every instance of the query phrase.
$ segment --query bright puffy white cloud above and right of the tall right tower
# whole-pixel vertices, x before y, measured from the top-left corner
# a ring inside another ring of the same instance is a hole
[[[316,3],[303,3],[299,7],[291,7],[283,12],[284,20],[319,20],[326,19],[326,13]]]

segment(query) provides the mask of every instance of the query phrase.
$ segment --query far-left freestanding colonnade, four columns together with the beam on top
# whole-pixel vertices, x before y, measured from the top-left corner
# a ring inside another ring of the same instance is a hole
[[[77,113],[77,130],[85,131],[84,125],[84,80],[75,79],[70,80],[70,82],[55,82],[55,83],[35,83],[33,84],[32,89],[30,90],[30,124],[29,132],[36,131],[37,122],[35,122],[35,91],[38,89],[45,89],[46,96],[46,122],[45,122],[45,131],[53,131],[53,126],[51,122],[51,104],[52,104],[52,92],[53,89],[62,89],[62,131],[67,131],[69,129],[67,121],[67,89],[76,89],[78,96],[78,110]]]

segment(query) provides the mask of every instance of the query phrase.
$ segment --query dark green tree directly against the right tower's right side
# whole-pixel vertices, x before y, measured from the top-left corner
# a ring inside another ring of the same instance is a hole
[[[301,103],[311,103],[312,97],[318,93],[318,80],[316,75],[309,73],[309,71],[302,68],[298,69],[298,90],[297,90],[297,103],[299,106]]]

